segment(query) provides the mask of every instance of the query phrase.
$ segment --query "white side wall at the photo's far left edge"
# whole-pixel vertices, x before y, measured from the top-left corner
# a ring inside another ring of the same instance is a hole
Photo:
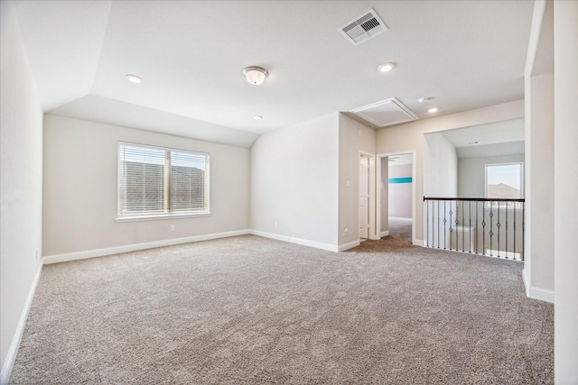
[[[42,267],[42,109],[13,12],[0,3],[0,383]]]

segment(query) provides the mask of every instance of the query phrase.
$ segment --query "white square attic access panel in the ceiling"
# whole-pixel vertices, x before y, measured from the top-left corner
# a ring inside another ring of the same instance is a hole
[[[355,108],[351,110],[350,113],[370,124],[377,125],[379,128],[386,127],[387,125],[412,122],[418,119],[417,116],[396,97]]]

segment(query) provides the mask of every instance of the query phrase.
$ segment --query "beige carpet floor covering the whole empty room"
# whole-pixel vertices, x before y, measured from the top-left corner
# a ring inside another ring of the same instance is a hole
[[[553,383],[522,264],[246,235],[44,266],[14,384]]]

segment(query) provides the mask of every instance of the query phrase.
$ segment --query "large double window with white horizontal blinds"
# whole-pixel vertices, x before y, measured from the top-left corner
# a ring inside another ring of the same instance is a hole
[[[209,154],[118,143],[118,216],[209,214]]]

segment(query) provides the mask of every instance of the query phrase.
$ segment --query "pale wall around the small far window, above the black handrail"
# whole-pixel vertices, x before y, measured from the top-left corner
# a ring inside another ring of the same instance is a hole
[[[458,197],[485,197],[486,165],[524,162],[524,154],[458,159]]]

